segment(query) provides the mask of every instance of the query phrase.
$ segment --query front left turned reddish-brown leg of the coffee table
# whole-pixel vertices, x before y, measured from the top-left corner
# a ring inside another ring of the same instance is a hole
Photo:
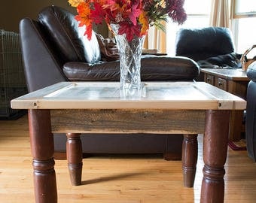
[[[34,168],[35,202],[56,203],[57,189],[50,111],[29,110],[28,113]]]

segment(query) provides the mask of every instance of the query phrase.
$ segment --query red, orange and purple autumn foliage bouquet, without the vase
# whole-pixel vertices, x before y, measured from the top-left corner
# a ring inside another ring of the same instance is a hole
[[[103,21],[108,25],[118,24],[118,35],[126,34],[128,41],[134,35],[141,37],[148,33],[149,26],[164,30],[161,21],[168,17],[181,24],[187,19],[184,0],[69,0],[77,8],[75,17],[79,26],[86,26],[85,35],[90,39],[93,24]]]

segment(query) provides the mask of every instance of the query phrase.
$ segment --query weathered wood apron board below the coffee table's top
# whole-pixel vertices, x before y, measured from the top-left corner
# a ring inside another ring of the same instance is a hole
[[[51,110],[52,132],[64,133],[204,133],[206,111],[200,110]]]

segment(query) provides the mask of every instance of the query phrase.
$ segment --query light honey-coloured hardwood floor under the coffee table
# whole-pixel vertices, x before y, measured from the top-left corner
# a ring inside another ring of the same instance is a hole
[[[84,159],[83,185],[71,186],[66,160],[56,160],[59,202],[200,202],[202,135],[194,188],[184,188],[181,162],[158,155]],[[256,164],[246,151],[228,149],[225,202],[255,202]],[[0,202],[34,202],[32,157],[26,116],[0,120]]]

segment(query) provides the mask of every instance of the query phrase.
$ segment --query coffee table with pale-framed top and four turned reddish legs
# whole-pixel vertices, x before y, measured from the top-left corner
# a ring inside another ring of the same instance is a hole
[[[193,186],[197,134],[203,138],[201,202],[224,201],[230,111],[246,102],[204,82],[147,82],[139,96],[126,97],[117,82],[62,82],[11,101],[28,109],[35,201],[57,202],[53,132],[67,134],[72,185],[81,184],[83,132],[183,134],[184,186]]]

